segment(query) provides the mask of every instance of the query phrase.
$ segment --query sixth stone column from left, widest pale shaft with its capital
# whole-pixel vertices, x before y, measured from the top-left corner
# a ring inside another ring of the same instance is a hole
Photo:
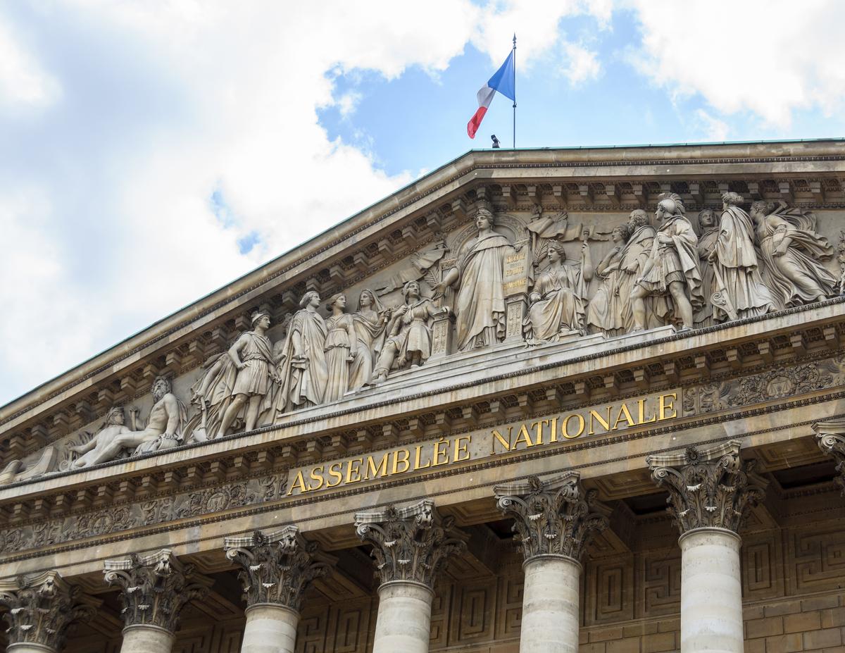
[[[766,481],[732,440],[703,451],[649,456],[680,530],[681,653],[743,653],[739,526]]]

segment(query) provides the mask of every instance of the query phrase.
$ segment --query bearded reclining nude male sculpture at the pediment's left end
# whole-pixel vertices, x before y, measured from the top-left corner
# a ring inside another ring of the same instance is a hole
[[[170,381],[163,376],[158,376],[153,381],[152,394],[153,407],[150,409],[146,428],[141,431],[118,429],[117,432],[103,429],[90,441],[94,442],[94,446],[90,451],[86,451],[85,456],[79,458],[74,466],[85,468],[107,463],[125,450],[137,455],[182,444],[183,426],[187,421],[185,404],[171,392]],[[86,448],[90,442],[85,445]],[[79,464],[79,461],[84,462]]]

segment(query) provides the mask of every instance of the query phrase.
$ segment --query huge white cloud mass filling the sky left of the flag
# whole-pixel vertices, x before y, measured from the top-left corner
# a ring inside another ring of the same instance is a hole
[[[30,128],[0,119],[0,226],[15,244],[0,274],[19,280],[0,284],[0,403],[410,181],[319,125],[320,107],[356,106],[338,71],[436,75],[471,41],[497,41],[500,60],[514,27],[532,34],[531,65],[561,16],[588,11],[45,0],[9,17],[0,89],[66,102]],[[20,25],[41,36],[37,62],[8,38]]]

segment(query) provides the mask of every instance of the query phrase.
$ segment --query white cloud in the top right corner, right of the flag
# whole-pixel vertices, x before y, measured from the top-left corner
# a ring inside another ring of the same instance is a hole
[[[750,111],[787,127],[793,112],[845,101],[845,3],[838,0],[627,0],[641,24],[631,57],[676,97]]]

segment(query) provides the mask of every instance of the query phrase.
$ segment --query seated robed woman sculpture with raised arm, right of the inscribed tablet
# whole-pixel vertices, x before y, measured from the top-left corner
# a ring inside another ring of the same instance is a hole
[[[529,296],[522,332],[529,344],[553,343],[570,332],[584,335],[585,282],[592,278],[590,248],[581,246],[581,262],[564,265],[566,252],[557,241],[548,244],[549,266],[537,277]]]

